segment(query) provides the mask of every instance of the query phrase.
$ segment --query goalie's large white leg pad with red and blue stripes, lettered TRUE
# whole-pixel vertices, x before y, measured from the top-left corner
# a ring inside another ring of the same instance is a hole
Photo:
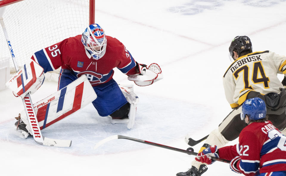
[[[86,75],[82,75],[63,89],[33,104],[40,128],[44,129],[71,115],[96,98],[97,95]],[[24,111],[21,112],[21,119],[27,124],[26,129],[32,134]]]

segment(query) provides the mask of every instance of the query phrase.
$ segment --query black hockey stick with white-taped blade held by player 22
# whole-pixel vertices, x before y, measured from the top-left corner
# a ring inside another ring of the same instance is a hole
[[[177,151],[177,152],[182,152],[182,153],[186,153],[188,155],[198,155],[198,153],[196,152],[192,152],[190,150],[184,150],[184,149],[178,149],[178,148],[175,148],[175,147],[170,147],[170,146],[165,146],[163,144],[159,144],[159,143],[154,143],[154,142],[149,142],[149,141],[144,141],[144,140],[141,140],[141,139],[136,139],[136,138],[131,138],[131,137],[128,137],[128,136],[122,136],[122,135],[113,135],[113,136],[110,136],[108,138],[105,138],[101,141],[99,141],[95,146],[94,146],[94,149],[97,149],[99,146],[101,146],[103,143],[106,143],[108,141],[111,141],[113,139],[127,139],[127,140],[131,140],[131,141],[135,141],[135,142],[140,142],[140,143],[145,143],[145,144],[148,144],[148,145],[152,145],[152,146],[156,146],[156,147],[161,147],[161,148],[164,148],[164,149],[169,149],[169,150],[174,150],[174,151]],[[224,162],[224,163],[230,163],[229,160],[225,160],[225,159],[221,159],[221,158],[215,158],[215,157],[212,157],[212,160],[215,160],[215,161],[221,161],[221,162]]]

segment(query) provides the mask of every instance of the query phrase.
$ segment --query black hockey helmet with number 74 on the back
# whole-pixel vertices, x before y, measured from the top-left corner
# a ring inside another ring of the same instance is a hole
[[[233,50],[236,49],[238,55],[242,51],[249,50],[252,53],[252,44],[248,36],[236,36],[229,46],[229,56],[233,58]],[[234,58],[233,58],[234,59]],[[235,60],[235,59],[234,59]]]

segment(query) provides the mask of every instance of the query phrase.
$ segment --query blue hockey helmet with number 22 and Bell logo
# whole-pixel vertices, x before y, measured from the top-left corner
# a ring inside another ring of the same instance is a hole
[[[259,120],[265,118],[265,102],[258,97],[245,100],[242,104],[242,111],[240,113],[241,120],[244,120],[245,115],[248,115],[250,120]]]

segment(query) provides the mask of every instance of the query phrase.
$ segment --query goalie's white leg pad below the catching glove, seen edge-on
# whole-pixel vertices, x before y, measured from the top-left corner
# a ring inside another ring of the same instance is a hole
[[[138,96],[133,92],[133,85],[120,85],[119,87],[125,96],[128,103],[130,103],[130,110],[128,113],[128,119],[112,119],[111,123],[127,123],[127,128],[131,129],[135,124],[135,116],[137,111],[137,104],[139,102]]]

